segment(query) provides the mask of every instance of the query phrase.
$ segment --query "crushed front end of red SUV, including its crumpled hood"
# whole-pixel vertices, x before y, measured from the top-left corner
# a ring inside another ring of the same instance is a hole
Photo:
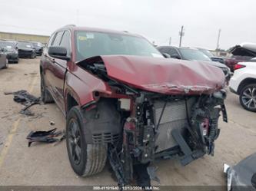
[[[150,179],[158,180],[151,166],[157,158],[175,156],[186,165],[206,153],[213,156],[220,113],[228,121],[221,69],[147,59],[109,56],[79,64],[109,85],[111,93],[99,92],[98,99],[114,99],[121,117],[119,142],[108,143],[108,160],[119,186],[134,180],[148,186]],[[150,75],[135,78],[138,68]],[[176,71],[187,77],[175,76]]]

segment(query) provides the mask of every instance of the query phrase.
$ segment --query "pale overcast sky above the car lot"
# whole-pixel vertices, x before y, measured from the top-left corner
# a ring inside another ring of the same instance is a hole
[[[144,35],[155,44],[215,49],[256,42],[255,0],[1,0],[0,31],[51,35],[67,24]]]

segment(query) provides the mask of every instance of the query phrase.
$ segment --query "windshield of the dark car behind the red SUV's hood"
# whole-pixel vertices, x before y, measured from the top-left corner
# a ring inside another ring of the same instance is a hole
[[[211,61],[211,59],[208,58],[207,55],[198,50],[180,48],[180,51],[182,57],[188,61]]]

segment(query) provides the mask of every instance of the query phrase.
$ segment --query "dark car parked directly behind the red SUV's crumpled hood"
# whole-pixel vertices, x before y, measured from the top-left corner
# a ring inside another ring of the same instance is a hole
[[[231,78],[231,72],[229,68],[217,61],[211,61],[206,54],[202,53],[196,48],[178,48],[173,46],[159,46],[157,47],[161,54],[169,54],[171,58],[187,60],[187,61],[205,61],[207,64],[214,65],[224,72],[227,82]]]

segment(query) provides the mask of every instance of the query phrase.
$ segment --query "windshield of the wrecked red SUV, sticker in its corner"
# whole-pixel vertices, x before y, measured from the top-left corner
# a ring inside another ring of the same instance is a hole
[[[161,53],[145,38],[114,33],[76,31],[76,60],[97,55],[138,55],[161,57]]]

